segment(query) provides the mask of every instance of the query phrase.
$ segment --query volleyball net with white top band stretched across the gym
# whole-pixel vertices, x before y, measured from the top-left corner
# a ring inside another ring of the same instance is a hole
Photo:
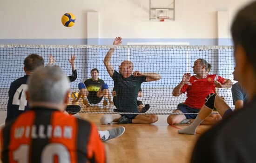
[[[110,48],[115,48],[111,64],[118,72],[119,65],[124,60],[134,64],[134,71],[155,72],[162,78],[158,81],[141,84],[143,92],[138,100],[149,104],[149,110],[144,114],[172,114],[177,105],[186,100],[186,93],[173,97],[173,88],[182,80],[184,73],[193,74],[192,66],[196,59],[205,59],[211,64],[209,74],[217,74],[223,78],[233,80],[234,70],[233,46],[47,46],[47,45],[0,45],[0,110],[7,110],[8,90],[11,82],[25,75],[23,61],[27,55],[36,53],[49,62],[52,54],[58,65],[67,74],[72,74],[68,62],[71,54],[75,54],[77,79],[70,83],[71,92],[78,92],[77,85],[87,78],[91,78],[90,70],[97,68],[99,78],[108,84],[111,93],[114,87],[113,79],[108,75],[103,59]],[[231,108],[234,108],[231,89],[218,89],[218,94],[225,98]],[[71,97],[70,100],[73,98]],[[111,97],[113,99],[113,97]],[[109,102],[108,102],[109,103]],[[71,102],[70,102],[71,104]],[[99,104],[86,106],[80,100],[80,112],[115,113],[115,105],[103,107],[103,99]],[[127,111],[128,114],[130,111]],[[139,113],[136,113],[139,114]]]

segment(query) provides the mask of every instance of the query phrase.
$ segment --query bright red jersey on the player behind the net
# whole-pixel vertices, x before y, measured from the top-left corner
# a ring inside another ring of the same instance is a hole
[[[204,104],[205,98],[214,93],[216,85],[214,80],[217,80],[221,84],[224,83],[225,78],[214,75],[207,75],[206,78],[190,77],[188,84],[183,85],[181,91],[185,93],[187,91],[187,99],[184,104],[191,108],[201,109]]]

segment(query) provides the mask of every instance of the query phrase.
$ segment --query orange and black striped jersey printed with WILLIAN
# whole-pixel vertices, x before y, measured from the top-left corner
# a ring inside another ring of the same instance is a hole
[[[105,163],[96,126],[36,107],[0,130],[3,163]]]

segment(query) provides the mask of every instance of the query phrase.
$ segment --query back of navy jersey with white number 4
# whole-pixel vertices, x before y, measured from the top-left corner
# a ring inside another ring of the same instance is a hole
[[[30,109],[25,93],[27,91],[27,78],[28,75],[25,75],[24,77],[14,80],[10,85],[6,123]]]

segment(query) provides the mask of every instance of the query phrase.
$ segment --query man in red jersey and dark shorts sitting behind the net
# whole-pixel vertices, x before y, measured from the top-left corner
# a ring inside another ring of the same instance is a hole
[[[195,119],[196,113],[202,108],[205,98],[210,93],[214,93],[216,87],[230,88],[233,85],[229,79],[222,78],[216,74],[208,74],[208,66],[209,64],[204,59],[195,60],[193,66],[195,75],[190,77],[190,73],[185,73],[181,83],[174,88],[173,96],[180,96],[182,93],[187,92],[187,99],[185,103],[178,104],[178,108],[174,111],[174,113],[180,115],[168,116],[168,124],[179,124],[185,119],[187,123],[191,123],[190,120]],[[215,124],[220,119],[221,116],[219,114],[213,114],[205,118],[202,124]]]

